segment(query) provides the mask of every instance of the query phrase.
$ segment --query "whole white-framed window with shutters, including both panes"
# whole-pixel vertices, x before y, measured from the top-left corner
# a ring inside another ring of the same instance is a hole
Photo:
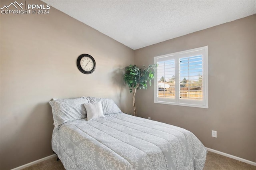
[[[208,108],[208,46],[154,57],[154,102]]]

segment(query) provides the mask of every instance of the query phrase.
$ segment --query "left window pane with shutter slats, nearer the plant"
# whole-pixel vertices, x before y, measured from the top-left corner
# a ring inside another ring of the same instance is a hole
[[[174,59],[157,63],[158,97],[175,98]]]

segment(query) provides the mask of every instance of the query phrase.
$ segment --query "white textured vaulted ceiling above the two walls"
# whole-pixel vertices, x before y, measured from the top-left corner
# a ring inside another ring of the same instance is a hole
[[[42,0],[139,49],[256,14],[256,0]]]

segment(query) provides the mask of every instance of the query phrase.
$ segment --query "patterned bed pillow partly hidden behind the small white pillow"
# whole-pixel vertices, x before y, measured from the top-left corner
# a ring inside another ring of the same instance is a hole
[[[122,113],[119,107],[112,99],[108,98],[98,98],[98,97],[86,97],[89,102],[99,102],[101,101],[102,110],[104,115],[114,114],[114,113]]]

